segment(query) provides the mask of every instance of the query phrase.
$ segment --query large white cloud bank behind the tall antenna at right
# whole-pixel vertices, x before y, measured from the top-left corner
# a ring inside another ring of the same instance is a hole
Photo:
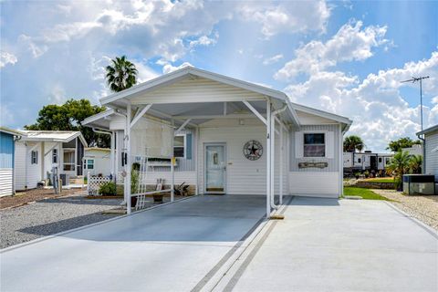
[[[353,120],[349,134],[360,135],[372,151],[384,151],[389,141],[415,138],[420,130],[420,106],[407,102],[419,104],[419,97],[404,96],[401,91],[402,87],[418,89],[418,84],[400,82],[420,75],[430,76],[423,82],[424,96],[436,97],[432,109],[423,107],[427,127],[438,123],[438,51],[428,59],[381,70],[362,81],[342,72],[322,71],[285,90],[293,101],[349,117]]]

